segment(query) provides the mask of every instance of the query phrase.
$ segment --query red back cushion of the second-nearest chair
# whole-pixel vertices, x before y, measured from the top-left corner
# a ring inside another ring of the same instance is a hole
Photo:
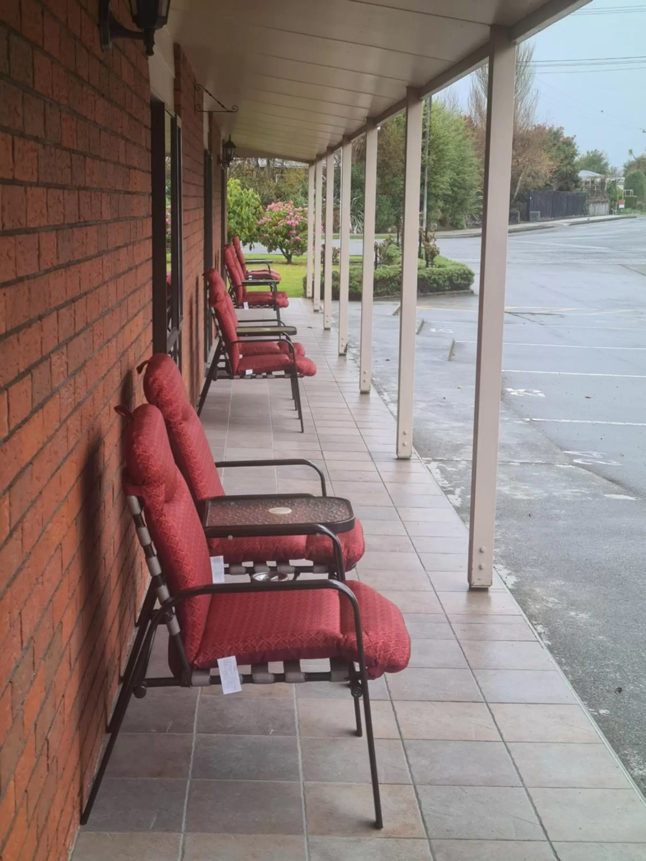
[[[184,387],[177,365],[165,353],[155,353],[146,365],[144,393],[164,417],[172,454],[193,499],[222,496],[224,489],[213,455]]]

